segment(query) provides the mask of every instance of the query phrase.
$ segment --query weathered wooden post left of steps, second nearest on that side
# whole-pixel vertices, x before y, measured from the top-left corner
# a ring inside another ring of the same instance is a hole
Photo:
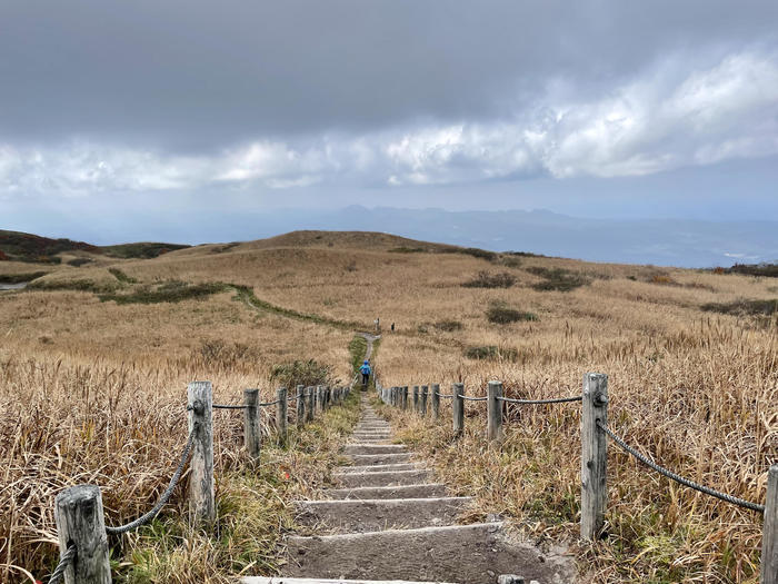
[[[187,388],[189,432],[194,429],[189,462],[189,514],[193,522],[212,523],[213,498],[213,387],[210,382],[192,382]]]

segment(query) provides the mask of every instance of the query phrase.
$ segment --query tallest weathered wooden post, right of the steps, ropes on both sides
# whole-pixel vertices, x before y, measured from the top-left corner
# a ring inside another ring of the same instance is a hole
[[[597,422],[608,423],[608,376],[584,376],[581,410],[581,538],[595,540],[602,529],[608,498],[608,436]]]

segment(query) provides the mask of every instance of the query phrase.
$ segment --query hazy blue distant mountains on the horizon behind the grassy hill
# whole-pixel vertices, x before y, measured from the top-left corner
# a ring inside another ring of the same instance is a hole
[[[383,231],[423,241],[591,261],[714,267],[778,259],[778,221],[581,219],[545,210],[347,207],[251,217],[251,237],[293,229]]]

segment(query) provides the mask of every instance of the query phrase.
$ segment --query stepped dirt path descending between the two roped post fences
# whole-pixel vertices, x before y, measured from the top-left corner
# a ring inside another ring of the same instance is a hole
[[[368,338],[368,355],[371,348]],[[345,448],[352,465],[333,473],[339,487],[298,503],[299,521],[321,535],[289,537],[283,575],[245,584],[492,584],[501,574],[527,584],[577,581],[570,557],[511,540],[500,522],[459,525],[472,499],[446,496],[391,434],[363,395],[362,417]]]

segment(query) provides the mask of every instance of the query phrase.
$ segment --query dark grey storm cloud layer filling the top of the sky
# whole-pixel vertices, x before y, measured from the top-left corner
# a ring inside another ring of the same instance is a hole
[[[0,141],[179,152],[489,121],[668,55],[775,46],[778,3],[101,0],[0,4]]]

